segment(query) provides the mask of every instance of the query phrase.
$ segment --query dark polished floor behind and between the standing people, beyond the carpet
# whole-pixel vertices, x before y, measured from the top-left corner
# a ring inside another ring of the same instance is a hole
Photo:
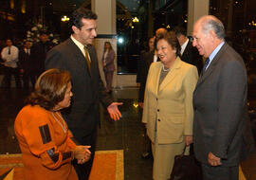
[[[26,90],[0,88],[0,153],[20,153],[13,133],[13,122],[29,94]],[[152,159],[142,159],[145,150],[144,127],[137,107],[137,88],[118,88],[113,98],[123,102],[119,107],[122,118],[112,121],[101,109],[101,127],[98,131],[97,150],[124,151],[124,179],[151,180]],[[256,180],[256,153],[241,164],[247,180]]]

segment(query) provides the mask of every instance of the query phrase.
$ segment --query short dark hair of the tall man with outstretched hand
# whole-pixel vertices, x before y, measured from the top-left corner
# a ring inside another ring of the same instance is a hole
[[[75,26],[75,27],[78,27],[79,29],[81,29],[81,27],[83,26],[82,21],[81,21],[82,18],[97,20],[98,16],[96,13],[94,13],[90,9],[85,9],[83,7],[76,9],[72,13],[72,17],[71,17],[71,21],[70,21],[71,27]]]

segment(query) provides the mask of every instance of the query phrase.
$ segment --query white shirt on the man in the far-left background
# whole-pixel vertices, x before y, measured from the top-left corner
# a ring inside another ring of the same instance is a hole
[[[4,65],[7,67],[16,68],[19,55],[19,49],[14,46],[6,46],[1,52],[2,59],[5,61]]]

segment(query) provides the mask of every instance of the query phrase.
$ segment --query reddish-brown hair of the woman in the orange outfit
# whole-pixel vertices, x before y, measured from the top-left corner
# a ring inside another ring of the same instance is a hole
[[[56,68],[46,70],[36,81],[35,90],[26,99],[26,104],[40,105],[46,110],[53,110],[64,99],[70,81],[68,71]]]

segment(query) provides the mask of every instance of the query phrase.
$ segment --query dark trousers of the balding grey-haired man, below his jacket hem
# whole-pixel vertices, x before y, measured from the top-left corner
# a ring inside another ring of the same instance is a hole
[[[234,167],[212,167],[207,164],[202,164],[204,180],[238,180],[239,168]]]

